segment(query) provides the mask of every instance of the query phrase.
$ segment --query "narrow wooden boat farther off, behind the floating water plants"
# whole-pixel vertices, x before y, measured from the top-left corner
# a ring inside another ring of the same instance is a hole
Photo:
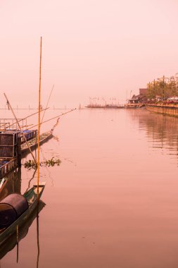
[[[42,145],[44,142],[46,142],[47,140],[49,140],[52,137],[53,137],[53,131],[52,130],[46,131],[45,133],[42,133],[39,136],[39,144]],[[31,150],[34,150],[37,147],[37,138],[33,138],[32,140],[30,140],[28,142],[28,145],[29,145]],[[27,147],[26,143],[23,143],[21,145],[21,152],[22,152],[23,157],[24,157],[25,154],[29,153],[29,148]]]

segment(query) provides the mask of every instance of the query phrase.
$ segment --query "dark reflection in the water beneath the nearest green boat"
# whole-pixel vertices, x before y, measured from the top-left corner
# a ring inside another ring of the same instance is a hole
[[[39,200],[38,207],[36,207],[36,209],[34,209],[32,214],[30,214],[28,221],[25,221],[23,226],[20,229],[18,229],[18,240],[17,240],[17,233],[15,232],[13,233],[11,238],[8,238],[8,240],[6,240],[6,242],[3,245],[1,245],[0,260],[6,255],[7,252],[13,250],[15,245],[17,245],[17,243],[19,243],[20,240],[22,240],[23,238],[25,238],[25,236],[27,236],[28,229],[32,225],[34,219],[38,216],[39,212],[41,212],[41,210],[44,208],[44,206],[45,203],[42,202],[42,200]]]

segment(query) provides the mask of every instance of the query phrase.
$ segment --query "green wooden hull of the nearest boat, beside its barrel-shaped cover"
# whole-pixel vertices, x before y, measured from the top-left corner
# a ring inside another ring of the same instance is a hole
[[[39,184],[39,198],[42,196],[45,184],[46,183]],[[29,207],[16,221],[13,222],[13,224],[8,226],[8,228],[0,230],[0,247],[6,242],[6,240],[8,240],[8,238],[13,235],[13,233],[17,231],[17,226],[18,229],[20,228],[20,226],[23,226],[24,222],[29,219],[30,215],[37,207],[37,185],[34,185],[23,196],[26,198]]]

